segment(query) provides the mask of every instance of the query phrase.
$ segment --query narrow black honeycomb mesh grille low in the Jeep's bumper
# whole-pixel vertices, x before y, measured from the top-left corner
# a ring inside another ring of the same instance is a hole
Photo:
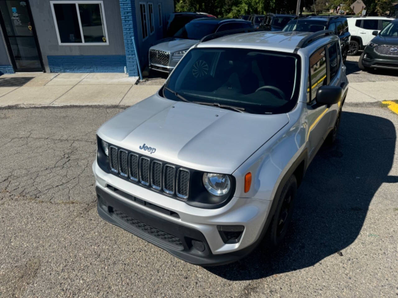
[[[157,228],[149,226],[148,224],[144,224],[139,220],[134,219],[133,217],[125,215],[123,212],[119,210],[113,209],[113,213],[120,219],[127,221],[127,223],[131,224],[135,228],[140,229],[142,232],[145,232],[146,234],[150,234],[151,236],[154,236],[162,241],[172,244],[173,246],[176,247],[176,249],[182,250],[184,248],[181,240],[179,240],[179,238],[177,238],[176,236],[163,232]]]

